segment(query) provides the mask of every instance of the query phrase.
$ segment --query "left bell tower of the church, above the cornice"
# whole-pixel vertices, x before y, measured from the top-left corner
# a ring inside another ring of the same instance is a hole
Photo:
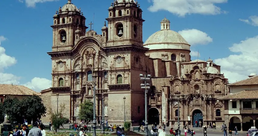
[[[54,22],[51,26],[53,28],[52,51],[71,50],[76,44],[76,37],[79,36],[77,31],[81,32],[80,36],[85,35],[86,18],[81,9],[73,5],[71,1],[68,0],[62,8],[60,6],[53,17]]]

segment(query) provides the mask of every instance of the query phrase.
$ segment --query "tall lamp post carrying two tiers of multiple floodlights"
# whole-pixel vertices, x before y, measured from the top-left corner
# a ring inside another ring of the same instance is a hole
[[[147,93],[148,93],[148,89],[150,89],[150,84],[146,83],[146,80],[150,80],[151,79],[151,75],[144,75],[140,74],[140,79],[144,80],[144,84],[141,84],[141,88],[145,89],[145,136],[148,136],[148,119],[147,119]]]

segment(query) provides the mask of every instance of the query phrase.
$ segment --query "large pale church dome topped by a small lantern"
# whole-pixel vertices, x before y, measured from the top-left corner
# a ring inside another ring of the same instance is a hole
[[[164,18],[161,30],[152,34],[144,43],[144,47],[155,49],[186,49],[190,50],[188,42],[177,32],[170,30],[170,21]]]

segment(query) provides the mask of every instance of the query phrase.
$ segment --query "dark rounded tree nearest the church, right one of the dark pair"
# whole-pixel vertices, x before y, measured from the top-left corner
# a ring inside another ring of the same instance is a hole
[[[24,118],[30,121],[36,121],[37,118],[45,116],[46,107],[42,103],[42,99],[39,96],[28,96],[22,101],[22,108],[24,110]]]

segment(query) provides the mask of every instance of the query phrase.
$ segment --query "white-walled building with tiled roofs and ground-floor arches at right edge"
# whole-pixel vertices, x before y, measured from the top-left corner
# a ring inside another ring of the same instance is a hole
[[[258,126],[258,76],[252,73],[248,79],[229,84],[230,94],[218,100],[225,101],[225,123],[230,128],[248,131]]]

